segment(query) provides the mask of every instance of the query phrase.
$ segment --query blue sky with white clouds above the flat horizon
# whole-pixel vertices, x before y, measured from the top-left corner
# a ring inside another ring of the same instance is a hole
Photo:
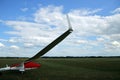
[[[119,0],[0,0],[0,57],[31,57],[68,29],[44,56],[120,56]]]

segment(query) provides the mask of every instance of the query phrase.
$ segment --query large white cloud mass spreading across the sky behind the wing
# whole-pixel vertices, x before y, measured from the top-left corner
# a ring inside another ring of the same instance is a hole
[[[41,7],[33,14],[33,22],[5,21],[6,25],[13,28],[13,31],[6,33],[17,36],[17,38],[11,38],[9,42],[21,44],[25,49],[47,45],[67,28],[67,20],[63,9],[63,6],[52,5]],[[52,53],[58,52],[61,53],[59,55],[65,55],[62,53],[66,52],[68,55],[74,55],[74,53],[81,52],[86,55],[90,55],[89,53],[102,55],[102,53],[106,53],[107,50],[118,53],[120,50],[114,49],[114,47],[118,47],[120,42],[120,14],[110,16],[95,15],[101,10],[102,9],[70,10],[68,14],[74,32],[66,39],[66,42],[63,42],[64,45],[61,44],[61,46],[59,46],[59,48],[64,46],[65,49],[55,48]],[[74,44],[75,42],[85,45],[77,45]],[[67,47],[68,45],[69,47]],[[39,47],[37,49],[29,49],[28,52],[32,53],[34,50],[39,50]],[[13,48],[15,48],[15,46],[13,46]],[[81,56],[81,54],[77,55]]]

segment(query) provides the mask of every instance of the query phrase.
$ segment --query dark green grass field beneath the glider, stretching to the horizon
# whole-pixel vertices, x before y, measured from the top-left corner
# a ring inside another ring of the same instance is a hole
[[[21,62],[21,59],[0,59],[0,67]],[[41,58],[39,69],[6,71],[0,80],[120,80],[120,58]]]

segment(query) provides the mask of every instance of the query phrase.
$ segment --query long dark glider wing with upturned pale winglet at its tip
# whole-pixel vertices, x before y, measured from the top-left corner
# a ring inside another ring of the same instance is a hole
[[[49,45],[47,45],[45,48],[43,48],[41,51],[39,51],[35,56],[29,58],[26,61],[31,61],[31,60],[35,60],[37,58],[39,58],[40,56],[44,55],[45,53],[47,53],[49,50],[51,50],[53,47],[55,47],[58,43],[60,43],[62,40],[64,40],[72,31],[72,27],[70,24],[70,20],[69,17],[67,15],[67,21],[68,21],[68,26],[69,29],[64,32],[61,36],[59,36],[58,38],[56,38],[53,42],[51,42]]]

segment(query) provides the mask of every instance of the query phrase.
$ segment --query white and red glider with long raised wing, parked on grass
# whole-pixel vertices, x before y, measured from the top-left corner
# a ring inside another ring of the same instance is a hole
[[[31,57],[28,60],[25,60],[21,63],[13,64],[12,66],[6,65],[6,67],[0,68],[0,72],[8,71],[8,70],[18,70],[23,73],[26,70],[39,68],[41,65],[34,62],[34,60],[38,59],[40,56],[47,53],[49,50],[51,50],[53,47],[55,47],[58,43],[60,43],[62,40],[64,40],[70,33],[72,33],[73,29],[70,24],[68,15],[67,15],[67,21],[68,21],[69,29],[67,31],[65,31],[62,35],[60,35],[58,38],[56,38],[49,45],[47,45],[45,48],[43,48],[41,51],[39,51],[36,55],[34,55],[33,57]]]

